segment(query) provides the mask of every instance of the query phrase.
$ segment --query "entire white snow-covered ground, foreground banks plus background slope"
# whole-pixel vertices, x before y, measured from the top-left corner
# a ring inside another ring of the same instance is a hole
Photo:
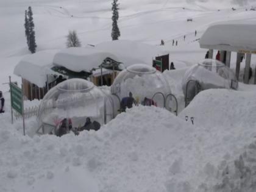
[[[61,138],[32,137],[35,117],[26,119],[26,137],[21,119],[10,124],[9,88],[3,83],[9,75],[20,82],[12,75],[13,68],[29,54],[24,10],[31,5],[34,11],[38,50],[62,49],[73,29],[83,46],[111,40],[111,2],[0,2],[0,90],[6,99],[0,115],[0,191],[256,191],[255,85],[240,84],[238,91],[202,91],[185,109],[181,87],[186,67],[204,59],[206,51],[197,42],[204,30],[217,21],[255,21],[256,12],[246,11],[256,5],[254,0],[120,1],[121,39],[155,45],[165,41],[177,69],[163,75],[177,96],[179,112],[183,109],[179,116],[157,107],[133,107],[98,132]],[[172,46],[173,39],[178,46]],[[233,54],[232,68],[235,58]]]

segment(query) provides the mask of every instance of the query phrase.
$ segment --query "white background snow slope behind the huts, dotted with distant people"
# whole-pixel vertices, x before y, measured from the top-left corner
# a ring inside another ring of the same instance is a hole
[[[77,30],[83,46],[111,40],[111,0],[103,1],[48,1],[48,0],[2,0],[0,2],[0,59],[4,69],[0,76],[0,89],[7,90],[9,74],[27,51],[24,36],[24,11],[30,5],[34,12],[35,34],[38,48],[65,48],[68,30]],[[246,3],[242,3],[246,2]],[[172,52],[171,60],[196,62],[205,55],[196,40],[209,26],[217,21],[255,20],[255,12],[245,11],[251,1],[177,1],[143,0],[120,2],[119,28],[121,39],[137,40],[150,44],[160,44],[163,39],[166,48]],[[244,6],[244,7],[241,7]],[[231,7],[235,7],[233,12]],[[184,9],[183,9],[184,8]],[[220,9],[220,12],[217,10]],[[193,22],[188,23],[188,17]],[[194,37],[197,30],[197,37]],[[186,41],[183,42],[183,35]],[[179,46],[172,47],[172,39]],[[185,49],[184,49],[185,48]],[[186,54],[186,57],[182,55]],[[20,80],[13,76],[14,80]]]

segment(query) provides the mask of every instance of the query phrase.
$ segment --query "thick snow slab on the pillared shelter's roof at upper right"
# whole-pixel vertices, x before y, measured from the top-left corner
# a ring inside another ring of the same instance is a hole
[[[202,35],[200,47],[256,53],[255,31],[256,24],[250,22],[214,24]]]

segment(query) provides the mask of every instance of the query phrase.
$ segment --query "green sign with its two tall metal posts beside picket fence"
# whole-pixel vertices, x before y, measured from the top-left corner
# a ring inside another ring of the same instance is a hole
[[[23,116],[23,133],[25,135],[25,121],[24,121],[24,103],[23,103],[23,90],[17,85],[13,84],[10,80],[10,98],[11,108]],[[13,110],[12,110],[12,123],[13,123]]]

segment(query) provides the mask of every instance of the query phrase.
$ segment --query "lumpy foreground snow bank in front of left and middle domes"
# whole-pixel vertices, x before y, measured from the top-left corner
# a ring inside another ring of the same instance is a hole
[[[218,181],[219,162],[241,153],[247,140],[226,142],[230,133],[222,129],[142,106],[98,132],[29,138],[6,122],[0,136],[0,191],[55,192],[199,191]]]

